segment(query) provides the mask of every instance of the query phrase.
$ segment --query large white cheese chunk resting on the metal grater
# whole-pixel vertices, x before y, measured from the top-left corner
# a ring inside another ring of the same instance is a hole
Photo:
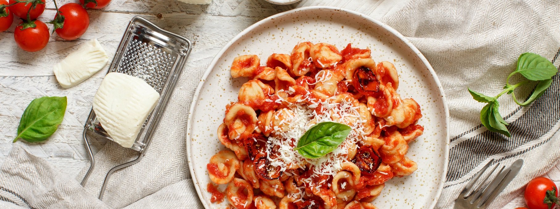
[[[109,73],[94,96],[94,111],[109,136],[130,148],[160,94],[141,78]]]

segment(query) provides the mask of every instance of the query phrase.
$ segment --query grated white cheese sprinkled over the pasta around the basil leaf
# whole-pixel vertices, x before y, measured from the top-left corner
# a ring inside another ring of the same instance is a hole
[[[322,76],[322,77],[321,77]],[[318,73],[318,80],[322,80],[329,76],[329,72],[324,72],[322,75]],[[330,75],[332,76],[332,75]],[[291,90],[291,89],[290,89]],[[293,116],[282,117],[280,124],[288,129],[281,129],[278,126],[272,127],[272,132],[267,141],[267,158],[270,160],[270,165],[274,167],[281,167],[282,171],[303,168],[312,169],[314,174],[308,179],[303,179],[304,183],[308,186],[313,186],[319,189],[324,182],[312,182],[312,177],[318,175],[335,175],[344,162],[347,162],[348,149],[354,146],[357,141],[360,141],[362,136],[366,133],[363,131],[363,123],[360,113],[358,112],[359,106],[355,107],[352,99],[333,102],[336,97],[331,97],[325,101],[316,101],[317,99],[310,98],[310,93],[306,93],[304,98],[298,99],[295,103],[288,103],[289,112],[293,112]],[[315,110],[315,107],[321,105],[321,110]],[[297,145],[300,137],[305,134],[311,126],[320,122],[333,121],[332,116],[338,118],[342,124],[351,126],[352,131],[347,139],[339,145],[337,149],[321,158],[306,159],[293,148]],[[278,115],[274,116],[279,120]],[[289,117],[289,118],[288,118]],[[311,122],[312,121],[312,122]],[[330,186],[329,186],[330,187]]]

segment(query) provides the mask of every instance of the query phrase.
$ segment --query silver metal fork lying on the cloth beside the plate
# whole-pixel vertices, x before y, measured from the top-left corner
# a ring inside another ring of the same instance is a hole
[[[521,166],[523,165],[523,159],[516,160],[506,168],[502,166],[500,171],[496,174],[496,177],[492,179],[490,183],[486,183],[488,178],[500,167],[500,163],[492,169],[490,173],[484,177],[484,180],[478,183],[477,187],[474,188],[474,184],[477,183],[480,176],[490,167],[494,162],[494,159],[490,160],[484,167],[474,175],[474,178],[466,184],[463,191],[459,194],[459,197],[455,200],[455,209],[473,209],[473,208],[486,208],[489,203],[494,201],[494,198],[498,196],[500,192],[506,188],[507,184],[511,182],[512,179],[519,173]]]

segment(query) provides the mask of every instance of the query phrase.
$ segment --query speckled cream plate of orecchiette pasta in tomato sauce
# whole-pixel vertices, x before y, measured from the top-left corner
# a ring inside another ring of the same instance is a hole
[[[206,208],[433,208],[449,112],[424,56],[357,12],[255,23],[194,95],[189,168]]]

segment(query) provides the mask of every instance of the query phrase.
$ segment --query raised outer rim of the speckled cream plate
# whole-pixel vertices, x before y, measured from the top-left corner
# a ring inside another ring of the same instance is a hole
[[[445,175],[447,174],[447,164],[449,163],[449,108],[447,106],[447,99],[445,97],[445,93],[444,93],[444,89],[441,86],[441,82],[440,79],[437,77],[436,72],[433,70],[432,65],[430,65],[430,63],[428,62],[428,60],[426,59],[426,57],[424,57],[424,55],[420,52],[420,50],[418,50],[418,48],[416,48],[416,46],[414,46],[412,44],[412,42],[410,42],[406,37],[404,37],[402,34],[400,34],[400,32],[396,31],[393,27],[386,25],[385,23],[376,20],[373,17],[370,17],[368,15],[365,15],[363,13],[360,12],[356,12],[356,11],[352,11],[352,10],[346,10],[343,8],[339,8],[339,7],[329,7],[329,6],[309,6],[309,7],[300,7],[300,8],[296,8],[293,10],[288,10],[286,12],[281,12],[278,13],[276,15],[264,18],[263,20],[260,20],[256,23],[254,23],[253,25],[245,28],[245,30],[241,31],[239,34],[237,34],[233,39],[231,39],[229,42],[227,42],[227,44],[225,46],[223,46],[223,48],[220,50],[220,52],[218,52],[218,54],[216,54],[216,56],[214,56],[214,59],[212,59],[211,63],[208,65],[208,68],[206,69],[206,72],[204,72],[204,75],[202,76],[202,78],[200,78],[200,82],[198,83],[197,89],[194,92],[193,95],[193,100],[190,104],[190,110],[189,110],[189,117],[187,119],[187,125],[186,125],[186,151],[187,151],[187,161],[189,164],[189,172],[191,175],[191,178],[193,179],[193,184],[194,184],[194,188],[197,190],[197,194],[198,194],[198,198],[200,199],[200,202],[202,202],[202,205],[204,206],[204,208],[210,208],[209,205],[206,203],[206,201],[203,200],[203,196],[202,196],[202,190],[200,189],[200,185],[198,185],[198,180],[197,180],[197,175],[195,175],[194,173],[194,167],[193,167],[193,163],[190,159],[192,159],[192,152],[191,152],[191,129],[192,129],[192,117],[193,117],[193,112],[194,112],[194,108],[197,106],[197,102],[198,102],[198,97],[200,94],[200,89],[202,89],[202,86],[204,85],[204,82],[206,82],[206,79],[208,78],[208,75],[212,72],[212,70],[214,69],[214,67],[216,67],[216,63],[218,62],[218,59],[221,58],[221,56],[225,53],[225,51],[227,49],[229,49],[231,47],[232,44],[234,44],[235,41],[239,40],[242,36],[244,36],[245,34],[247,34],[248,32],[254,30],[255,28],[259,27],[260,25],[263,25],[264,23],[274,20],[278,17],[282,17],[285,15],[290,15],[292,13],[296,13],[296,12],[301,12],[301,11],[312,11],[312,10],[332,10],[332,11],[338,11],[338,12],[346,12],[349,13],[351,15],[354,16],[360,16],[362,18],[365,18],[366,20],[374,23],[377,26],[380,26],[382,28],[384,28],[385,30],[389,31],[391,34],[395,35],[396,37],[398,37],[400,40],[402,40],[404,42],[404,44],[406,44],[414,53],[416,53],[416,55],[418,56],[418,58],[422,61],[422,63],[426,66],[426,68],[428,69],[428,71],[430,72],[430,74],[432,75],[434,82],[436,83],[437,89],[440,91],[441,94],[441,100],[445,109],[445,150],[444,150],[444,167],[443,170],[441,172],[442,177],[440,179],[440,186],[437,189],[436,192],[436,197],[433,199],[432,204],[430,205],[430,208],[434,208],[436,206],[437,201],[439,200],[440,196],[441,196],[441,191],[444,188],[444,183],[445,183]]]

